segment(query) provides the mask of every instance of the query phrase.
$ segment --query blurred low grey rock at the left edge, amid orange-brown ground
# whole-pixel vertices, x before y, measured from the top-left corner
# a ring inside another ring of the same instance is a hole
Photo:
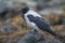
[[[17,29],[11,25],[5,25],[0,28],[0,32],[2,33],[11,33],[16,31]]]

